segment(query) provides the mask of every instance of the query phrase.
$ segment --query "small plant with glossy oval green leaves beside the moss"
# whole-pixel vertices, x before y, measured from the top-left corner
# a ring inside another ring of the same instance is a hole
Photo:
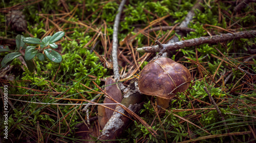
[[[46,55],[50,61],[55,62],[55,63],[60,63],[62,61],[61,55],[58,52],[52,50],[51,48],[54,48],[54,49],[58,48],[58,45],[55,44],[55,42],[58,41],[59,39],[61,39],[64,35],[65,35],[65,32],[57,32],[53,36],[46,36],[42,40],[40,40],[38,38],[33,38],[33,37],[25,38],[23,35],[17,35],[16,36],[17,50],[19,51],[20,48],[22,50],[26,49],[25,54],[23,55],[20,52],[8,53],[2,60],[2,63],[1,63],[2,68],[5,68],[8,65],[10,65],[12,63],[12,61],[15,58],[18,58],[19,56],[23,57],[30,72],[33,72],[35,69],[34,62],[32,61],[32,59],[35,56],[37,56],[37,58],[40,61],[45,61],[45,55]],[[25,43],[40,44],[40,46],[38,48],[36,48],[36,46],[27,46]],[[8,47],[5,47],[3,45],[0,45],[0,46],[1,46],[0,52],[9,52],[10,51],[10,49]],[[42,50],[44,50],[45,55],[43,53],[41,53]]]

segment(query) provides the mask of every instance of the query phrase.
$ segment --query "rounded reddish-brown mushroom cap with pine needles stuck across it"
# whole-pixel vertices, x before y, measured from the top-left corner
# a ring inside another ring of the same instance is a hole
[[[175,93],[186,91],[190,81],[191,75],[185,66],[169,58],[158,58],[143,68],[138,86],[143,94],[171,99]]]

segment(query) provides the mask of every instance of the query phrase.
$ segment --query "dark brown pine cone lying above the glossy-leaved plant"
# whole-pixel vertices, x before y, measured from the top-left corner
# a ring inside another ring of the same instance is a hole
[[[25,15],[23,15],[21,11],[9,11],[6,15],[7,25],[10,25],[11,29],[17,32],[25,32],[27,28],[27,21],[24,18]]]

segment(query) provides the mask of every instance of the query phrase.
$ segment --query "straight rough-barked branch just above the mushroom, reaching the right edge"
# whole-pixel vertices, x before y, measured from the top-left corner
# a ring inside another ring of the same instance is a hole
[[[198,46],[201,44],[214,44],[218,42],[226,42],[233,39],[240,39],[240,38],[253,38],[256,35],[256,30],[253,31],[243,31],[243,32],[237,32],[234,34],[228,33],[228,34],[221,34],[216,36],[207,36],[207,37],[200,37],[195,39],[189,39],[169,44],[162,44],[163,49],[162,52],[166,51],[173,51],[177,49],[181,49],[184,47],[190,47],[190,46]],[[159,46],[146,46],[142,48],[138,48],[137,51],[139,52],[159,52],[160,48]]]

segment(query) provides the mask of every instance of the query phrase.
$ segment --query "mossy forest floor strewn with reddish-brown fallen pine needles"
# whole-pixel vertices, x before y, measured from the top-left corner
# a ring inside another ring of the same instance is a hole
[[[168,18],[154,26],[163,26],[166,23],[175,25],[182,22],[195,3],[196,1],[166,0],[126,2],[121,15],[118,40],[121,41],[131,33],[135,34],[136,28],[144,28],[150,22],[168,14],[170,15]],[[15,38],[18,34],[5,26],[5,14],[11,10],[12,6],[23,11],[26,16],[27,32],[21,33],[25,37],[33,36],[41,39],[59,30],[66,33],[57,48],[62,55],[61,63],[57,64],[49,60],[41,62],[35,58],[36,70],[35,73],[31,73],[18,59],[15,59],[11,64],[14,67],[8,73],[15,80],[0,80],[1,85],[8,85],[9,98],[12,98],[8,113],[10,140],[13,142],[80,141],[74,129],[75,125],[86,120],[86,113],[81,112],[83,106],[69,104],[81,103],[72,99],[93,99],[99,90],[92,80],[103,86],[104,77],[113,75],[111,69],[112,34],[119,4],[119,1],[97,0],[50,0],[35,3],[13,0],[9,3],[3,1],[0,4],[2,8],[0,9],[0,36],[4,39],[1,40],[3,43]],[[248,4],[238,13],[233,12],[236,1],[210,3],[210,7],[205,3],[202,5],[204,11],[195,11],[196,16],[189,24],[195,32],[187,33],[185,37],[180,37],[181,40],[227,33],[223,29],[231,32],[244,31],[244,28],[255,29],[256,5],[254,3]],[[54,23],[57,23],[58,27]],[[138,48],[153,45],[156,39],[163,40],[167,33],[168,31],[157,31],[151,33],[151,36],[139,34],[133,46]],[[175,32],[170,33],[166,39],[174,34]],[[253,51],[256,47],[255,40],[251,38],[218,44],[203,44],[172,52],[170,58],[179,61],[189,69],[193,77],[191,87],[186,92],[180,93],[178,99],[172,100],[166,111],[158,112],[155,99],[147,97],[139,116],[154,130],[157,130],[157,137],[148,132],[142,124],[134,122],[125,129],[125,135],[120,136],[119,141],[179,142],[193,138],[199,138],[198,142],[230,141],[228,135],[206,138],[207,135],[225,134],[226,128],[203,87],[207,87],[211,96],[214,97],[229,130],[232,133],[237,132],[233,136],[234,140],[248,142],[253,139],[251,132],[256,130],[256,61],[255,58],[243,61],[250,56],[255,57],[255,51]],[[131,64],[119,58],[119,65],[121,70],[126,69],[124,72],[128,72],[129,69],[134,68],[134,62],[137,61],[134,61],[129,46],[125,44],[120,47],[120,51]],[[13,44],[9,47],[13,51],[16,49]],[[1,59],[6,54],[7,52],[0,53]],[[143,55],[144,53],[136,53],[135,58],[139,59]],[[142,67],[154,55],[155,53],[152,53]],[[183,56],[197,61],[199,65],[185,60]],[[105,63],[101,65],[103,62]],[[239,70],[237,68],[239,65],[251,74]],[[224,80],[231,72],[231,78],[224,84]],[[129,81],[124,83],[129,84]],[[1,89],[4,88],[1,87]],[[70,100],[56,99],[64,97]],[[65,105],[41,105],[20,102],[21,100]],[[99,98],[97,102],[102,103],[103,98]],[[97,108],[92,106],[90,118],[96,115]],[[0,117],[4,119],[3,114]],[[3,124],[3,122],[0,123],[1,136],[4,136]],[[97,124],[96,121],[91,126],[95,124]],[[4,142],[10,142],[10,140],[7,141],[2,137]]]

